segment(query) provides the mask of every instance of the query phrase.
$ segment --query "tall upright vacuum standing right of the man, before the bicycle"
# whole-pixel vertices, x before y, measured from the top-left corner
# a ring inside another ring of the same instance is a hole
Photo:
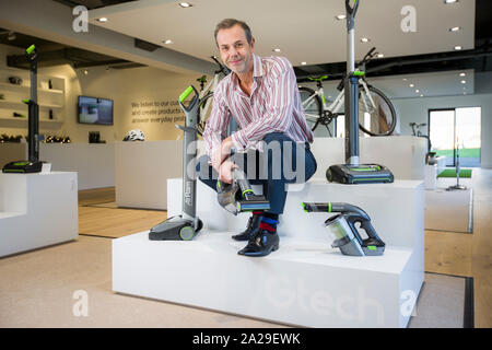
[[[355,71],[354,20],[358,8],[359,0],[345,0],[348,30],[347,79],[344,82],[347,164],[331,165],[326,171],[326,178],[330,183],[341,184],[393,183],[394,176],[387,167],[379,164],[360,164],[359,161],[359,79],[364,75],[364,72]]]

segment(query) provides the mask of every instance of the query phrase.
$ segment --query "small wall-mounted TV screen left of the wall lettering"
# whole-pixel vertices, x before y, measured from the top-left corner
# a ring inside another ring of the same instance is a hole
[[[113,100],[79,96],[79,122],[113,125]]]

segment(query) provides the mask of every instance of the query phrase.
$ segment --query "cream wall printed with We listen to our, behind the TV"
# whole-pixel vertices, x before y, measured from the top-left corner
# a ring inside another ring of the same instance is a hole
[[[0,69],[7,68],[8,55],[22,55],[23,49],[0,44]],[[42,52],[40,52],[42,55]],[[39,68],[39,74],[60,77],[66,80],[65,121],[58,124],[40,124],[39,132],[56,136],[69,136],[72,142],[89,142],[89,131],[99,131],[101,139],[107,142],[120,141],[131,129],[141,129],[147,140],[176,140],[183,131],[175,124],[183,124],[184,113],[177,102],[180,93],[195,84],[200,73],[184,74],[164,71],[156,68],[109,69],[94,67],[74,70],[69,65]],[[26,74],[25,70],[22,70]],[[79,95],[110,98],[114,101],[114,126],[82,125],[77,121]],[[131,103],[159,102],[155,107],[132,107]],[[167,105],[165,105],[167,103]],[[156,115],[132,116],[133,112],[155,112]],[[162,113],[159,115],[159,113]],[[173,113],[169,113],[173,112]],[[164,118],[159,121],[152,119]],[[133,122],[137,119],[148,121]],[[11,124],[0,120],[0,133],[27,135],[27,124]]]

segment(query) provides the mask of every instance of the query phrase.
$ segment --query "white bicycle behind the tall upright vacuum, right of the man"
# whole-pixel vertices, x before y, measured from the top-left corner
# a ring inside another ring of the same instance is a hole
[[[354,74],[360,75],[359,80],[359,128],[370,136],[389,136],[395,131],[396,113],[395,107],[386,95],[378,89],[370,85],[365,79],[364,70],[367,63],[377,54],[373,47],[359,62],[358,67],[362,71],[355,71]],[[342,79],[338,85],[340,93],[337,98],[328,105],[323,90],[323,81],[328,75],[318,78],[308,78],[317,83],[318,90],[302,86],[298,89],[301,100],[303,102],[307,125],[314,131],[318,126],[323,125],[327,128],[328,135],[332,137],[329,125],[336,120],[344,104],[344,82]]]

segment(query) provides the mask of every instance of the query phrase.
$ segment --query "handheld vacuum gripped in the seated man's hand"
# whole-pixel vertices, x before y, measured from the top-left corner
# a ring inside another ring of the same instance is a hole
[[[249,185],[246,174],[234,168],[231,184],[216,182],[216,196],[219,203],[229,212],[237,215],[244,211],[267,211],[270,209],[270,202],[265,196],[255,195]]]

